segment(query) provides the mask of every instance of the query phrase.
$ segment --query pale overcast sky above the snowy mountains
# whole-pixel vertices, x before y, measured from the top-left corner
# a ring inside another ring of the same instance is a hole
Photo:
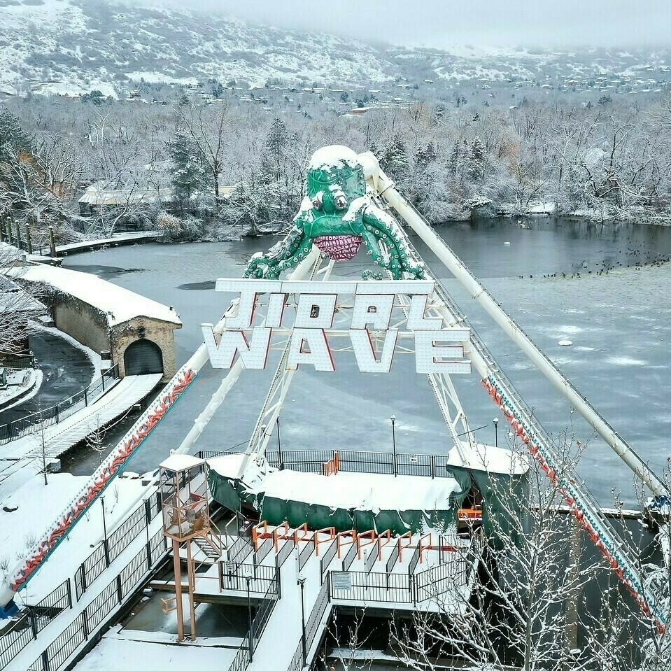
[[[478,45],[668,45],[671,0],[130,0],[217,11],[368,41]]]

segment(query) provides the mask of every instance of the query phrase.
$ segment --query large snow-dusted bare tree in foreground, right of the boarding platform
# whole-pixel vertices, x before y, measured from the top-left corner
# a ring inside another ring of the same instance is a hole
[[[561,469],[577,456],[565,454]],[[558,472],[560,481],[561,474]],[[392,640],[410,668],[434,671],[444,658],[504,671],[579,671],[577,609],[593,566],[576,553],[576,524],[560,512],[562,496],[535,462],[525,481],[492,476],[478,579],[449,611],[415,612],[412,626],[395,623]]]

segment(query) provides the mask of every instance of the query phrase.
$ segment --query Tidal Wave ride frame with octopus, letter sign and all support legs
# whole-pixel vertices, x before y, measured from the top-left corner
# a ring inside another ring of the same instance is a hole
[[[297,369],[312,366],[332,371],[334,351],[353,353],[362,372],[388,372],[395,353],[414,353],[416,372],[428,376],[451,436],[451,463],[488,470],[451,379],[474,369],[511,430],[563,494],[607,563],[658,627],[664,628],[666,614],[654,596],[645,593],[640,571],[619,532],[579,476],[567,471],[560,446],[432,276],[397,217],[633,470],[654,500],[665,501],[665,483],[500,308],[395,188],[376,157],[369,152],[357,155],[342,146],[325,147],[312,157],[307,195],[288,235],[268,253],[252,258],[246,278],[218,281],[217,290],[235,292],[238,297],[216,325],[203,325],[204,344],[97,469],[87,488],[59,516],[36,549],[10,574],[0,589],[0,616],[12,611],[15,593],[121,471],[208,360],[213,368],[223,370],[220,386],[174,450],[177,455],[192,451],[243,370],[264,368],[269,350],[279,347],[278,367],[240,460],[240,481],[244,483],[252,473],[258,477],[268,472],[264,457],[271,437],[268,428],[276,423]],[[365,246],[374,270],[367,270],[359,281],[332,281],[334,265],[351,259],[360,245]]]

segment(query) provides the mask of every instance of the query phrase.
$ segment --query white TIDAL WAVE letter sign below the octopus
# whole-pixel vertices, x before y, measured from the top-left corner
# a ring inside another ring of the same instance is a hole
[[[286,369],[311,365],[332,372],[335,364],[330,338],[349,339],[361,372],[389,372],[400,337],[414,340],[418,373],[469,373],[464,355],[467,328],[445,327],[439,316],[426,316],[435,282],[292,282],[281,280],[217,281],[218,291],[236,292],[220,336],[203,324],[213,368],[231,368],[240,358],[249,369],[264,369],[273,334],[290,338]],[[264,320],[255,320],[257,303],[267,304]],[[400,311],[398,295],[409,297]],[[408,304],[409,302],[409,304]],[[347,304],[344,309],[344,304]],[[288,306],[295,309],[288,309]],[[396,309],[396,312],[394,310]],[[336,315],[347,314],[345,327],[334,327]],[[399,317],[401,315],[401,318]],[[260,323],[255,323],[259,322]],[[343,349],[339,341],[337,348]],[[408,350],[409,347],[406,348]]]

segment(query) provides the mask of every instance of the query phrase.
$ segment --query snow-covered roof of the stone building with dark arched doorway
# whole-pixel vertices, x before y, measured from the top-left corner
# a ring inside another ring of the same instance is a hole
[[[110,326],[135,317],[148,317],[164,322],[182,323],[174,309],[132,291],[118,287],[99,277],[76,270],[43,264],[10,268],[6,274],[21,281],[43,283],[92,305],[104,313]]]

